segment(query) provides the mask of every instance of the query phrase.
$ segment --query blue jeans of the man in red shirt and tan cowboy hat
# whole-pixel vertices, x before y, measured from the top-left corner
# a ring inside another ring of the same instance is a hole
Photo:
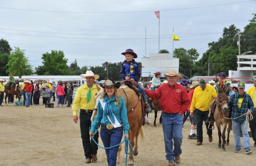
[[[166,160],[168,160],[169,162],[175,161],[175,156],[179,156],[182,153],[182,123],[182,115],[179,113],[163,113],[162,115]],[[174,140],[174,142],[172,142],[172,139]],[[173,145],[174,149],[172,150]]]

